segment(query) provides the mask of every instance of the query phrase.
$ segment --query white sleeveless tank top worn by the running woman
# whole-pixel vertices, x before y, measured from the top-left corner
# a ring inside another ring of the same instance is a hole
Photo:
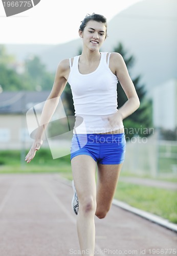
[[[106,55],[106,52],[101,52],[98,68],[89,74],[81,74],[79,72],[78,61],[80,55],[74,57],[73,65],[70,59],[68,82],[71,86],[75,107],[76,123],[74,133],[107,133],[123,127],[123,123],[119,127],[111,127],[108,121],[108,116],[118,111],[118,79],[109,69],[110,53],[108,54],[107,62]],[[81,124],[78,125],[78,123]]]

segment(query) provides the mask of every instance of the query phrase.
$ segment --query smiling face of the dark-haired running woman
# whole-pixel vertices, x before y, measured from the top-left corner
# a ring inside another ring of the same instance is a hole
[[[79,30],[79,36],[83,38],[83,45],[92,51],[99,50],[106,37],[104,23],[90,20],[83,31]]]

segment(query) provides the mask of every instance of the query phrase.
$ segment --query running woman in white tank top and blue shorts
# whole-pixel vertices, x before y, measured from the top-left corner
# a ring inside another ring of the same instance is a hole
[[[82,255],[94,256],[94,218],[95,215],[104,218],[110,209],[124,161],[123,119],[139,108],[140,101],[122,56],[115,52],[100,52],[107,36],[106,18],[95,13],[87,15],[80,25],[79,36],[83,41],[82,53],[59,63],[52,91],[43,107],[41,124],[50,122],[68,81],[74,100],[76,123],[77,118],[83,118],[81,125],[75,125],[72,139],[72,204],[77,214]],[[127,101],[119,109],[118,80],[127,96]],[[39,150],[46,126],[38,128],[26,156],[27,163]]]

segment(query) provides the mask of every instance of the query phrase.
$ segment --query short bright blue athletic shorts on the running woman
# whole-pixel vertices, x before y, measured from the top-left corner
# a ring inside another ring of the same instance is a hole
[[[125,157],[125,134],[74,134],[71,160],[78,155],[91,156],[100,164],[120,164]]]

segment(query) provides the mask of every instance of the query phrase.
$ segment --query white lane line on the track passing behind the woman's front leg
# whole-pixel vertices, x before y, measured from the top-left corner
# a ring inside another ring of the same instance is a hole
[[[55,201],[55,203],[61,208],[61,210],[69,217],[72,223],[76,224],[76,218],[70,213],[67,207],[63,205],[63,203],[59,200],[59,198],[55,195],[53,192],[51,186],[46,181],[41,181],[42,186],[46,189],[47,193],[52,197],[52,199]],[[63,183],[62,183],[63,184]],[[74,214],[74,213],[73,213]],[[97,252],[100,252],[100,254],[97,254],[98,256],[106,256],[105,253],[103,253],[102,249],[99,247],[97,243],[95,243],[95,250]]]

